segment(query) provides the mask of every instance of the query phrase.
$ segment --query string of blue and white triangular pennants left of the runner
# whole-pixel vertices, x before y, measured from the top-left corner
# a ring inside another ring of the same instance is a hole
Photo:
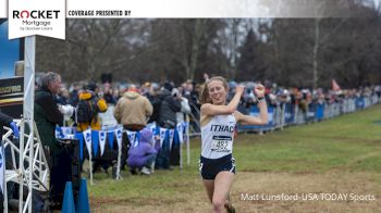
[[[152,146],[162,148],[164,141],[169,142],[170,150],[172,146],[180,145],[180,167],[183,167],[183,153],[182,147],[183,143],[186,143],[186,152],[187,152],[187,164],[190,163],[190,151],[189,151],[189,123],[183,122],[179,123],[175,128],[162,128],[156,125],[156,123],[148,124],[147,128],[152,131]],[[57,127],[56,128],[56,138],[67,140],[75,139],[78,140],[79,145],[79,160],[83,162],[85,149],[87,149],[88,153],[88,163],[89,167],[93,167],[93,159],[96,156],[102,156],[106,146],[109,146],[110,149],[113,149],[114,141],[116,141],[118,146],[118,166],[116,166],[116,179],[122,179],[120,174],[121,167],[121,156],[122,156],[122,137],[123,134],[128,138],[130,149],[134,149],[139,143],[139,131],[131,131],[123,129],[122,126],[115,126],[108,129],[102,130],[94,130],[87,129],[84,131],[76,131],[75,127]],[[158,145],[158,146],[157,146]],[[86,148],[85,148],[86,147]],[[100,150],[99,150],[100,149]],[[93,185],[93,170],[90,170],[90,184]]]

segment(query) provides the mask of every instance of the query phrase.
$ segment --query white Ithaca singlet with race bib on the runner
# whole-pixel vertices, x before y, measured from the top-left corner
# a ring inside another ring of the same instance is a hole
[[[207,159],[219,159],[233,151],[234,127],[233,114],[214,115],[201,127],[201,155]]]

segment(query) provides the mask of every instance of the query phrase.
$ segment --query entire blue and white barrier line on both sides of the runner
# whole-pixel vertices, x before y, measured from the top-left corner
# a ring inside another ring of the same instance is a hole
[[[370,105],[377,104],[381,99],[377,96],[369,97],[356,97],[356,98],[346,98],[339,99],[335,102],[312,102],[306,108],[300,108],[298,104],[292,104],[290,102],[280,102],[273,105],[268,106],[269,113],[269,123],[265,126],[237,126],[238,131],[271,131],[275,129],[282,129],[285,126],[291,125],[302,125],[306,123],[320,122],[327,118],[332,118],[341,114],[355,112],[358,110],[366,109]],[[199,113],[199,112],[198,112]],[[250,115],[259,116],[259,109],[254,105],[250,108]],[[148,125],[151,128],[153,136],[157,139],[152,138],[152,141],[160,142],[161,147],[164,140],[170,141],[170,143],[183,142],[186,143],[187,151],[187,163],[189,164],[189,136],[199,136],[199,121],[197,116],[192,116],[192,121],[196,121],[196,125],[192,126],[190,123],[184,122],[176,126],[174,129],[159,128],[156,124]],[[197,130],[198,129],[198,130]],[[138,131],[128,131],[123,129],[121,126],[115,126],[110,129],[103,129],[100,131],[88,129],[83,133],[75,133],[75,128],[72,127],[61,127],[57,129],[57,138],[72,138],[79,141],[81,148],[81,160],[84,159],[83,153],[87,148],[88,156],[102,155],[105,147],[107,145],[113,145],[113,140],[118,141],[118,168],[121,165],[121,152],[122,152],[122,134],[126,134],[132,147],[137,146],[139,133]],[[108,142],[107,142],[108,141]],[[85,148],[86,147],[86,148]],[[100,151],[98,152],[98,148]],[[181,149],[182,150],[182,149]],[[181,167],[182,167],[182,154],[181,154]],[[91,165],[90,165],[91,167]],[[116,179],[122,178],[120,171],[116,172]],[[93,184],[93,174],[90,174],[90,183]]]

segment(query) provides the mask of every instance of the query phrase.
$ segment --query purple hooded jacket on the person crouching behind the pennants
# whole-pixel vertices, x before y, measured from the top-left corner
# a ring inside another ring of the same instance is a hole
[[[152,131],[149,128],[140,130],[139,142],[137,147],[131,146],[128,150],[127,163],[131,168],[143,167],[151,154],[156,154],[157,151],[151,145]]]

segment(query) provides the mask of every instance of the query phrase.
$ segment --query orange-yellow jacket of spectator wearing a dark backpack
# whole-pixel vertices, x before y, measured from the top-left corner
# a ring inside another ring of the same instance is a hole
[[[84,100],[84,101],[89,101],[91,99],[96,99],[96,95],[93,91],[83,91],[79,93],[79,101]],[[97,106],[98,106],[98,111],[99,112],[106,112],[107,111],[107,103],[105,101],[105,99],[98,99],[97,100]],[[83,123],[78,123],[78,130],[83,131],[86,130],[88,127],[90,126],[90,128],[93,130],[100,130],[100,120],[98,117],[98,114],[93,117],[91,122],[83,122]]]

